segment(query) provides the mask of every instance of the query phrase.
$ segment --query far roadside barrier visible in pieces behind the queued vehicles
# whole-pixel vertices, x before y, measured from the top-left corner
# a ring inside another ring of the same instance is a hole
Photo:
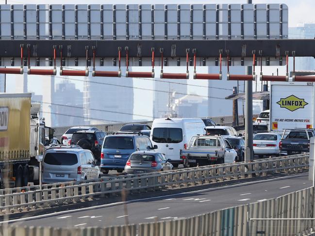
[[[239,125],[243,125],[243,115],[239,115]],[[207,117],[208,118],[208,117]],[[233,116],[216,116],[216,117],[209,117],[212,119],[216,124],[220,124],[221,126],[232,126]],[[103,124],[103,125],[91,125],[99,130],[104,132],[112,133],[114,131],[118,131],[122,126],[127,124],[146,124],[152,126],[153,121],[143,121],[143,122],[127,122],[127,123],[114,123],[114,124]],[[61,136],[72,126],[63,126],[63,127],[53,127],[55,132],[54,136],[60,140]]]

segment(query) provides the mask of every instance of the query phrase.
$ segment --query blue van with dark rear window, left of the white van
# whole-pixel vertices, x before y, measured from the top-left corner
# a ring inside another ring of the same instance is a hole
[[[118,134],[105,137],[101,154],[100,170],[108,173],[116,170],[122,173],[130,155],[135,151],[150,151],[156,149],[152,146],[148,136],[140,134]]]

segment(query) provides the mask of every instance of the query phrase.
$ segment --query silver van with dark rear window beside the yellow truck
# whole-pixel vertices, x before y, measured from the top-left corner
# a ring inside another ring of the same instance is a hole
[[[100,178],[99,167],[90,150],[79,146],[55,146],[43,157],[43,183],[60,183]]]

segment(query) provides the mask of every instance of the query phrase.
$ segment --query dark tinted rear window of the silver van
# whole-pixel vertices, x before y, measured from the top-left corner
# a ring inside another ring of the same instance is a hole
[[[78,158],[73,153],[46,153],[44,163],[56,166],[72,166],[78,163]]]

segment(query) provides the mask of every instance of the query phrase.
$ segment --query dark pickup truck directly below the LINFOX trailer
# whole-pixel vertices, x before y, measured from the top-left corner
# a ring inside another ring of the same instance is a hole
[[[283,130],[279,143],[280,155],[294,155],[310,151],[310,138],[314,137],[314,129]]]

